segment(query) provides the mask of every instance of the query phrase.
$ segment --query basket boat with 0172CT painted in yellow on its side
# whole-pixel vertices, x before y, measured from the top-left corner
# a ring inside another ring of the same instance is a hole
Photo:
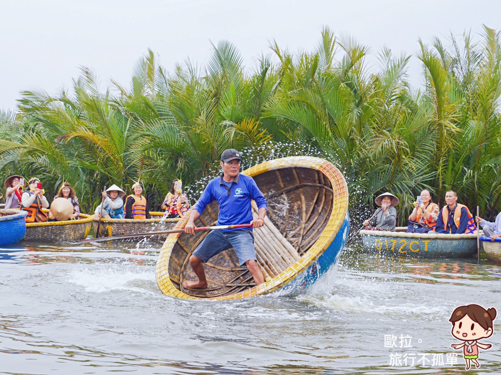
[[[477,253],[476,234],[406,233],[361,230],[364,247],[397,256],[471,258]]]

